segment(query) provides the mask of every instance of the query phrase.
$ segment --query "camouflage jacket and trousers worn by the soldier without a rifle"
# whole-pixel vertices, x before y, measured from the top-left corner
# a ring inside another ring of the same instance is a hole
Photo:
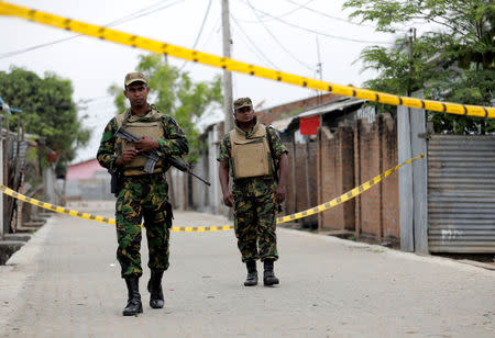
[[[282,154],[288,153],[282,143],[278,133],[268,128],[273,146],[273,158],[276,161]],[[231,142],[227,134],[220,143],[220,162],[231,161]],[[232,194],[234,196],[233,215],[238,248],[242,255],[242,261],[271,258],[278,259],[276,245],[276,204],[275,191],[277,189],[273,177],[245,178],[233,181]]]

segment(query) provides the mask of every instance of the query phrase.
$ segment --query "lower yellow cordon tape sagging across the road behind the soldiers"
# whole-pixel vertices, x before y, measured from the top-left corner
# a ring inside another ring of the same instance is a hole
[[[277,224],[279,223],[286,223],[286,222],[290,222],[294,219],[299,219],[299,218],[304,218],[317,213],[321,213],[323,211],[327,211],[336,205],[339,205],[343,202],[346,202],[353,198],[355,198],[356,195],[365,192],[366,190],[369,190],[370,188],[372,188],[373,185],[377,184],[378,182],[381,182],[384,178],[386,178],[387,176],[391,176],[392,173],[394,173],[395,171],[397,171],[402,166],[408,165],[414,160],[424,158],[425,154],[421,154],[417,157],[414,157],[405,162],[402,162],[400,165],[395,166],[392,169],[388,169],[387,171],[374,177],[373,179],[371,179],[370,181],[341,194],[340,196],[338,196],[337,199],[333,199],[327,203],[320,204],[318,206],[305,210],[304,212],[300,213],[296,213],[296,214],[292,214],[288,216],[283,216],[283,217],[278,217],[277,218]],[[66,214],[66,215],[70,215],[70,216],[76,216],[76,217],[80,217],[80,218],[85,218],[85,219],[90,219],[90,221],[96,221],[96,222],[102,222],[102,223],[107,223],[107,224],[113,224],[116,225],[116,219],[113,218],[108,218],[108,217],[102,217],[102,216],[97,216],[97,215],[91,215],[91,214],[87,214],[87,213],[80,213],[77,212],[75,210],[69,210],[63,206],[58,206],[58,205],[54,205],[54,204],[50,204],[46,202],[42,202],[38,201],[36,199],[32,199],[32,198],[28,198],[23,194],[20,194],[16,191],[13,191],[12,189],[0,184],[0,191],[3,192],[4,194],[18,199],[20,201],[24,201],[31,204],[34,204],[36,206],[43,207],[43,209],[47,209],[51,210],[53,212],[59,213],[59,214]],[[183,233],[208,233],[208,232],[221,232],[221,230],[231,230],[233,229],[232,225],[222,225],[222,226],[173,226],[172,230],[173,232],[183,232]]]

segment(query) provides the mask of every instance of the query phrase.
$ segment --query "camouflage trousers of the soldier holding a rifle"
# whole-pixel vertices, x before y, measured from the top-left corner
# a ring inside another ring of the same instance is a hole
[[[167,201],[168,185],[162,173],[125,177],[116,203],[117,259],[121,275],[141,277],[141,221],[146,228],[150,260],[153,270],[168,269],[168,239],[172,207]]]

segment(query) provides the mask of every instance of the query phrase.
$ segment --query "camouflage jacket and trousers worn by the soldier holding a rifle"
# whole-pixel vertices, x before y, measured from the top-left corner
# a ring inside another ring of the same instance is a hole
[[[142,116],[142,122],[146,119],[145,114]],[[162,125],[165,139],[158,139],[161,155],[166,157],[187,154],[188,142],[177,122],[164,115]],[[109,170],[116,169],[114,162],[118,155],[113,135],[117,128],[117,121],[113,117],[105,128],[97,154],[99,164]],[[150,254],[148,267],[154,270],[168,268],[168,227],[172,226],[172,210],[167,211],[167,191],[168,185],[163,173],[124,177],[123,188],[116,203],[119,244],[117,259],[121,266],[122,278],[142,274],[140,248],[143,218]]]

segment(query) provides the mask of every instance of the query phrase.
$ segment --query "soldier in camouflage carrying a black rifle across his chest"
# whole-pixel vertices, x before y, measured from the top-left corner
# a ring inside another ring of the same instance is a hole
[[[160,113],[147,103],[150,88],[143,74],[130,72],[124,80],[124,95],[131,109],[113,117],[107,124],[101,137],[97,158],[111,173],[122,173],[120,191],[116,193],[117,259],[121,275],[128,286],[128,304],[124,316],[143,312],[139,292],[141,269],[141,219],[144,218],[150,254],[151,279],[147,290],[151,293],[150,306],[164,305],[162,277],[168,269],[168,240],[172,226],[172,206],[168,203],[168,185],[165,172],[169,168],[167,156],[187,154],[188,142],[177,122]],[[130,143],[117,136],[119,127],[141,137]],[[161,160],[152,173],[143,170],[146,151],[156,149]]]

